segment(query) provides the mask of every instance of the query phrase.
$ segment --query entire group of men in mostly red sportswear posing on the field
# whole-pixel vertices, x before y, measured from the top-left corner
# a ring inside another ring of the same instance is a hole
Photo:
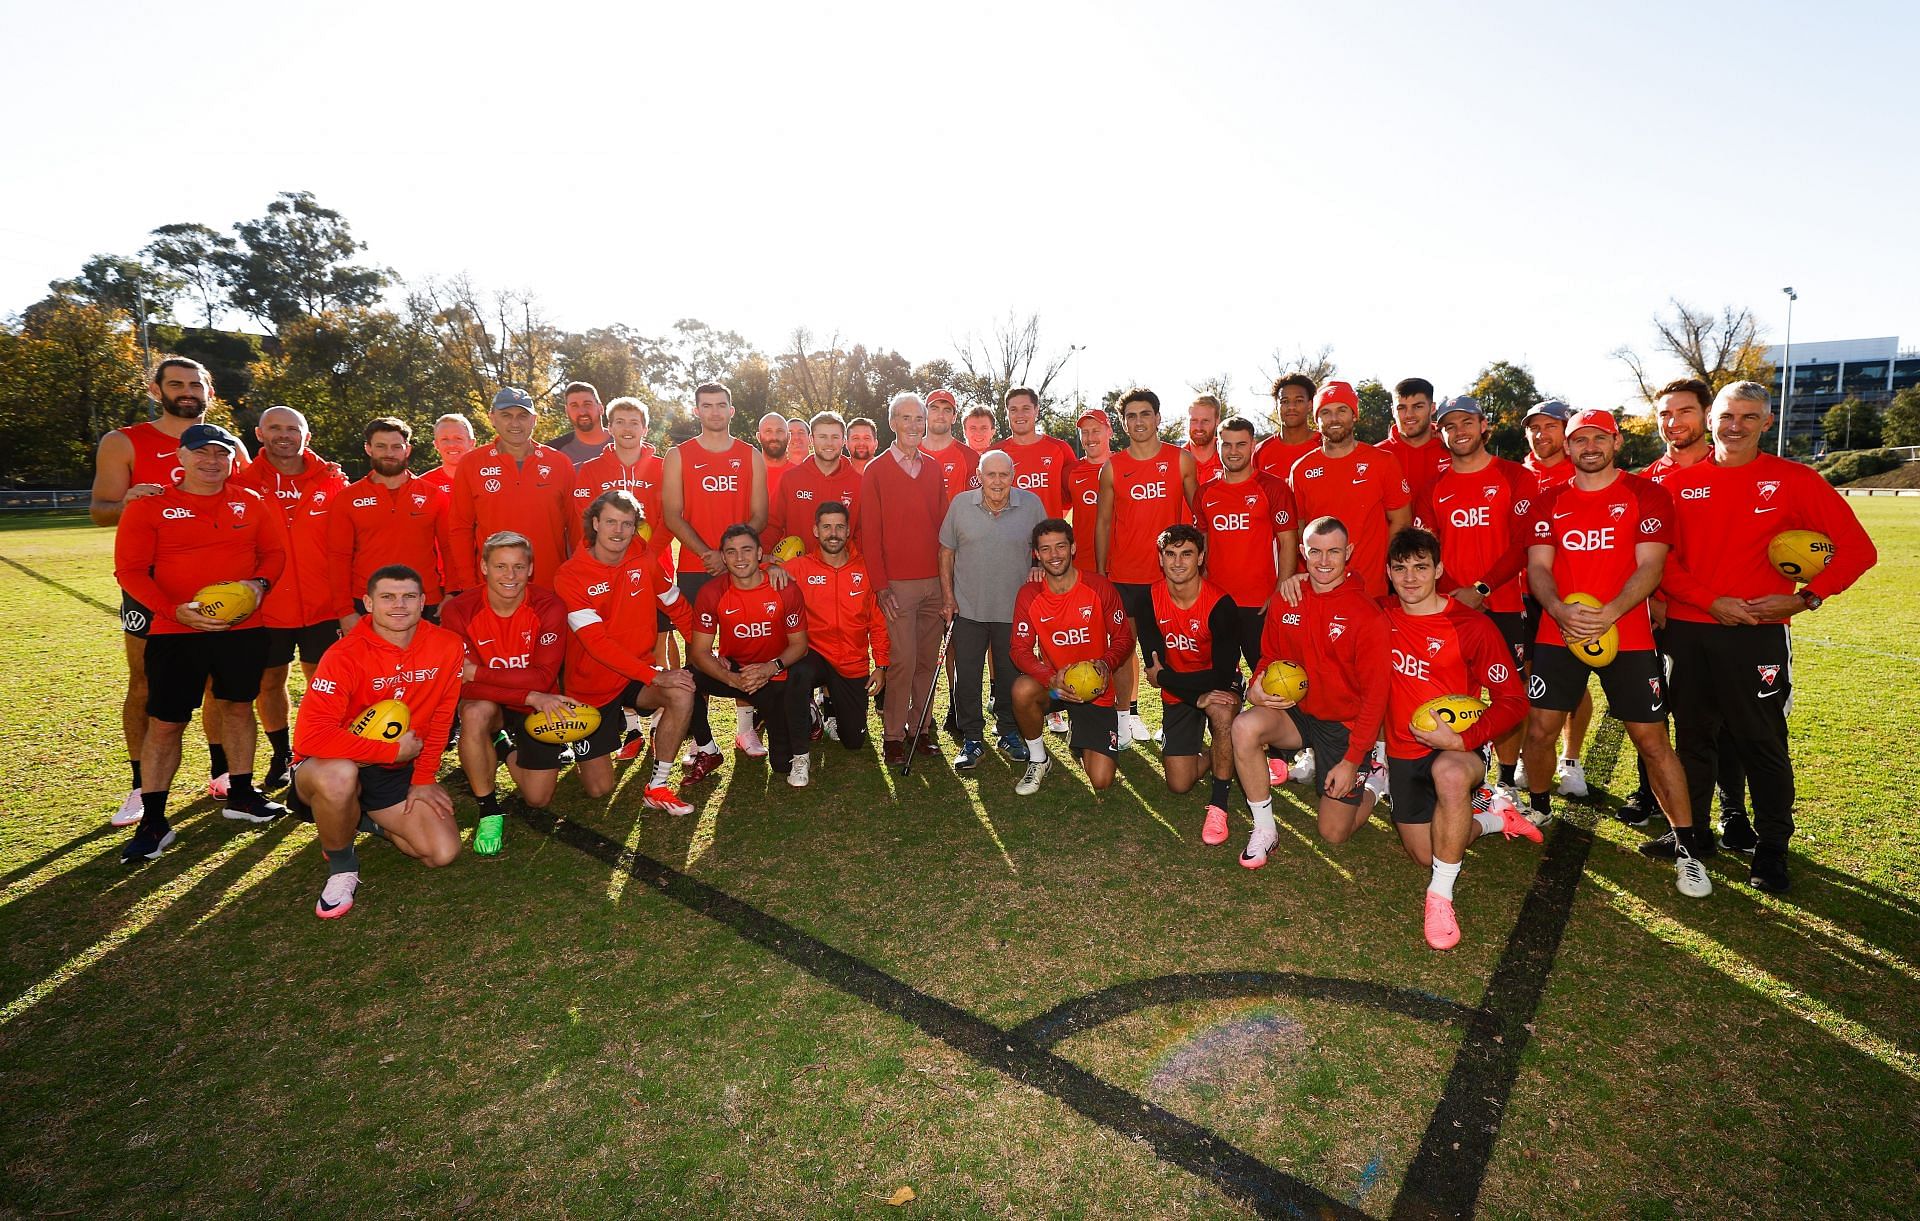
[[[1121,751],[1158,745],[1169,791],[1208,785],[1206,845],[1229,839],[1238,781],[1248,870],[1279,839],[1275,785],[1304,785],[1329,843],[1380,804],[1428,870],[1425,939],[1450,948],[1467,845],[1540,843],[1551,799],[1588,795],[1592,676],[1640,758],[1617,818],[1670,827],[1640,850],[1688,897],[1713,891],[1703,858],[1751,852],[1751,885],[1778,893],[1789,622],[1876,563],[1837,491],[1761,449],[1757,382],[1665,386],[1667,451],[1638,474],[1617,467],[1611,411],[1536,403],[1517,463],[1488,451],[1478,401],[1434,401],[1421,378],[1394,388],[1379,445],[1354,434],[1350,384],[1292,372],[1271,388],[1273,436],[1202,395],[1188,443],[1164,442],[1160,397],[1131,390],[1119,438],[1108,411],[1081,411],[1081,453],[1039,430],[1027,388],[1000,401],[1006,436],[950,390],[899,394],[879,449],[872,420],[833,411],[768,413],[751,445],[710,382],[697,434],[657,451],[645,403],[570,382],[564,440],[536,442],[534,397],[503,388],[493,440],[442,417],[426,474],[409,424],[372,419],[357,482],[292,407],[259,417],[250,457],[205,420],[196,361],[161,359],[148,392],[156,419],[102,438],[92,490],[123,591],[121,858],[173,843],[198,712],[225,818],[315,824],[323,918],[353,906],[361,833],[455,860],[449,749],[478,806],[472,849],[495,854],[501,764],[530,806],[568,766],[605,797],[632,762],[647,810],[691,812],[680,791],[726,758],[708,720],[724,699],[735,754],[795,789],[814,783],[816,741],[872,758],[870,705],[883,766],[943,754],[947,733],[968,774],[991,739],[1020,764],[1018,795],[1046,783],[1048,733],[1094,791]]]

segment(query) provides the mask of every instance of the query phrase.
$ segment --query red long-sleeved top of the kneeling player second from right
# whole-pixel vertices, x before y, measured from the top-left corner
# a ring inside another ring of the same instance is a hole
[[[1390,651],[1386,610],[1367,597],[1352,572],[1329,593],[1306,582],[1298,607],[1273,599],[1260,635],[1260,674],[1277,660],[1306,666],[1308,695],[1300,708],[1344,724],[1346,760],[1365,760],[1386,716]]]

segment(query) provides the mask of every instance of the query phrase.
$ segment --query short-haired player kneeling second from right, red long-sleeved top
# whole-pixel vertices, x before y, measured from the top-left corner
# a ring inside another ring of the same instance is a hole
[[[1321,781],[1319,833],[1327,843],[1352,839],[1386,787],[1369,766],[1386,714],[1388,683],[1380,678],[1388,670],[1386,612],[1348,572],[1352,553],[1338,518],[1308,522],[1300,538],[1306,561],[1300,605],[1275,603],[1267,610],[1260,668],[1246,687],[1252,706],[1233,722],[1235,772],[1254,812],[1254,835],[1240,852],[1248,870],[1267,864],[1281,837],[1273,822],[1267,747],[1313,753],[1313,774]],[[1306,668],[1308,689],[1298,703],[1261,687],[1260,680],[1277,660]]]

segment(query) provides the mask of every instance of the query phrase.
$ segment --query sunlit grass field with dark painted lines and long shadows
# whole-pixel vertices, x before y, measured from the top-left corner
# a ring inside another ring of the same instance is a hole
[[[1475,847],[1452,954],[1382,822],[1329,849],[1294,789],[1248,874],[1238,795],[1202,847],[1142,751],[1021,801],[826,743],[678,820],[563,779],[499,858],[363,841],[340,922],[309,826],[182,781],[123,870],[109,536],[0,522],[0,1213],[1910,1217],[1920,505],[1853,505],[1882,563],[1795,634],[1791,895],[1722,856],[1682,898],[1574,804]],[[1630,791],[1617,724],[1588,774]]]

